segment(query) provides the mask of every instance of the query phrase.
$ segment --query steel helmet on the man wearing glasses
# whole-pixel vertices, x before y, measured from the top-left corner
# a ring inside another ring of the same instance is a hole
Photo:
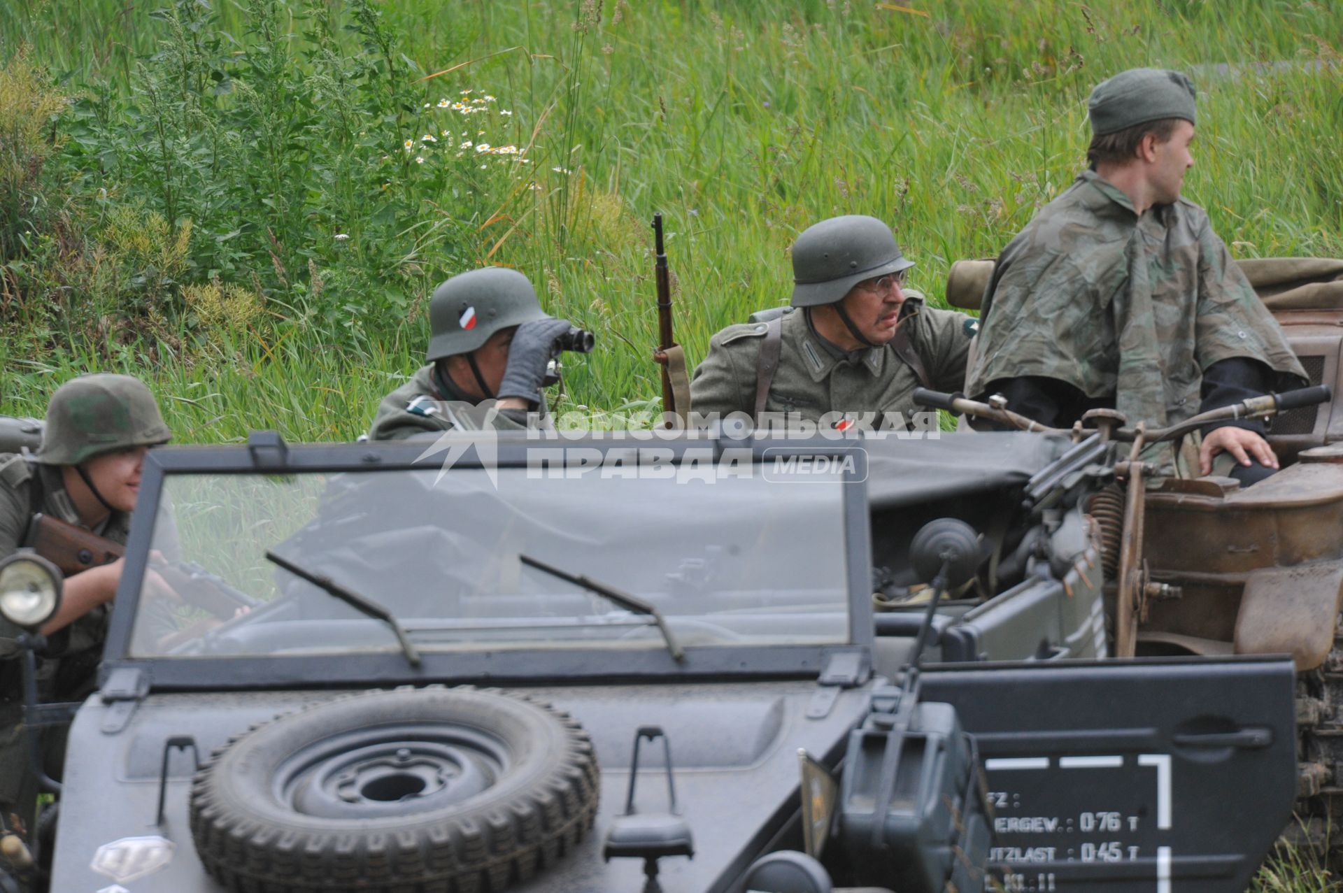
[[[900,252],[890,227],[877,218],[830,218],[802,231],[792,243],[792,306],[834,303],[864,279],[915,265]]]

